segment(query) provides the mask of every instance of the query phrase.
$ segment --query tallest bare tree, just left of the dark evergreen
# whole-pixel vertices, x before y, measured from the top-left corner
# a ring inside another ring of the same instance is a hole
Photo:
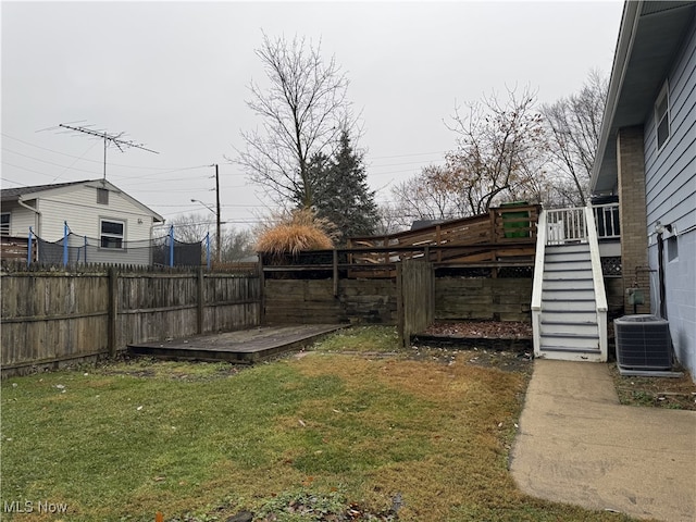
[[[331,157],[341,132],[356,123],[346,98],[346,74],[320,51],[321,42],[312,47],[304,38],[288,42],[265,34],[256,50],[269,86],[263,89],[251,80],[247,105],[263,123],[261,129],[241,132],[246,148],[237,150],[236,161],[284,207],[313,204],[311,158]]]

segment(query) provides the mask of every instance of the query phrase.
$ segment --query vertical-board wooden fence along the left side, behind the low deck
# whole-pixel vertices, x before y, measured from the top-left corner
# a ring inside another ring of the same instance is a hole
[[[18,272],[2,275],[2,374],[115,356],[128,344],[257,326],[258,273]]]

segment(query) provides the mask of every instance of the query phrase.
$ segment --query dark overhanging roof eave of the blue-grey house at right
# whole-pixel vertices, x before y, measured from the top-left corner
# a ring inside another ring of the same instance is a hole
[[[617,133],[643,124],[689,28],[696,1],[626,1],[592,173],[593,192],[617,183]]]

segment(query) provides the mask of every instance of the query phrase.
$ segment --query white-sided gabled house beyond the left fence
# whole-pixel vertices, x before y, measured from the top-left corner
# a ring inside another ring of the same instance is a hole
[[[71,262],[150,264],[152,228],[164,219],[105,179],[1,191],[0,234],[60,241],[70,228]],[[58,247],[58,249],[62,248]]]

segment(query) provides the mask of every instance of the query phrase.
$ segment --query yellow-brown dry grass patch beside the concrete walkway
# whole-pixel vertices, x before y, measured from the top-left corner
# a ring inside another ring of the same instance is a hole
[[[412,448],[397,450],[399,459],[393,457],[365,470],[369,485],[361,492],[364,501],[384,504],[385,493],[387,497],[400,493],[405,498],[400,512],[403,520],[447,520],[464,496],[467,502],[488,506],[495,505],[505,490],[519,497],[506,459],[525,386],[523,376],[460,362],[443,365],[320,355],[307,358],[301,366],[308,375],[340,375],[346,389],[356,396],[391,391],[420,409],[420,415],[410,417],[382,403],[351,419],[350,424],[375,432],[372,444],[355,448],[363,455],[370,455],[371,449],[388,451],[385,447],[397,448],[406,440],[415,443]],[[336,410],[341,411],[336,417],[350,414],[349,405],[337,405]],[[325,418],[316,405],[304,417],[310,422]],[[339,421],[330,422],[328,427],[332,425],[341,427]]]

